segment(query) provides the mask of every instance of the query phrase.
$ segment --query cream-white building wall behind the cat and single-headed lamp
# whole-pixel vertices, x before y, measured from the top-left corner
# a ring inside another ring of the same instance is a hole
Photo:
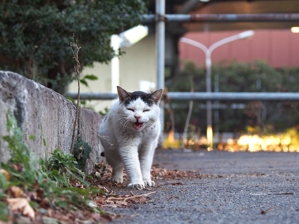
[[[124,48],[126,53],[120,57],[120,86],[127,91],[142,90],[149,92],[155,90],[140,89],[140,81],[156,83],[156,62],[155,62],[155,36],[149,35],[135,45]],[[79,58],[80,60],[80,58]],[[84,67],[80,77],[93,74],[97,80],[88,80],[89,87],[80,85],[80,93],[84,92],[110,92],[111,91],[111,65],[95,62],[93,67]],[[144,82],[143,82],[144,83]],[[116,88],[116,86],[115,86]],[[77,92],[77,80],[68,86],[69,92]],[[105,107],[110,107],[111,100],[91,100],[86,106],[94,108],[95,111],[102,111]]]

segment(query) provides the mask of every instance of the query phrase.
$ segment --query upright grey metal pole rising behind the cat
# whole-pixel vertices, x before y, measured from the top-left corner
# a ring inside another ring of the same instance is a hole
[[[164,67],[165,67],[165,0],[156,0],[156,66],[157,66],[157,89],[164,89]],[[160,103],[161,136],[164,136],[164,109],[163,102]]]

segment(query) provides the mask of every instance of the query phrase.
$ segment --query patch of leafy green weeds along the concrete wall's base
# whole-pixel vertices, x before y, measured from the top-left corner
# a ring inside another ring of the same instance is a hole
[[[9,162],[1,163],[1,168],[8,172],[9,177],[0,172],[1,220],[7,220],[9,208],[4,201],[7,197],[11,197],[11,186],[22,189],[24,197],[32,193],[36,194],[37,197],[31,198],[30,201],[30,205],[35,210],[40,209],[39,203],[43,199],[47,199],[47,206],[52,208],[102,212],[93,201],[89,200],[89,196],[106,193],[90,186],[85,178],[91,176],[77,167],[78,162],[71,154],[64,155],[61,150],[56,149],[48,159],[36,159],[28,146],[22,142],[22,130],[17,126],[16,118],[10,111],[7,112],[6,126],[9,134],[2,138],[8,143],[12,154]],[[83,152],[86,160],[84,155]]]

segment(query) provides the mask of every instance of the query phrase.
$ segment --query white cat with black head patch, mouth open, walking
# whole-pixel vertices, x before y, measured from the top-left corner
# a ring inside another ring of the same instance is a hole
[[[118,100],[112,103],[103,119],[99,134],[106,162],[112,166],[111,182],[123,182],[123,166],[130,189],[155,186],[150,168],[161,131],[159,103],[163,89],[153,93],[127,92],[117,86]],[[112,145],[112,144],[113,145]]]

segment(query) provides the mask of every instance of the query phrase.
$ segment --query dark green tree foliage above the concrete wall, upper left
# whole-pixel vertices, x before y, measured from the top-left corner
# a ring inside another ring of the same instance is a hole
[[[62,93],[73,79],[76,33],[80,64],[108,62],[110,36],[140,23],[142,0],[0,0],[0,69]]]

